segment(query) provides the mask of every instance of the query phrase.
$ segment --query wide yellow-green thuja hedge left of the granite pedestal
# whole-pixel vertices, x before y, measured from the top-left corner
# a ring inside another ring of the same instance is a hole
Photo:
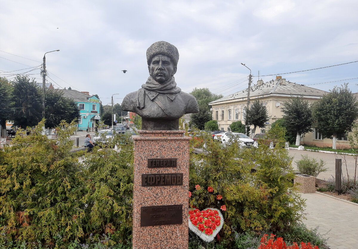
[[[71,152],[71,125],[61,123],[57,140],[41,135],[43,125],[44,120],[28,136],[21,131],[11,147],[0,151],[1,246],[126,244],[131,238],[132,143],[122,143],[119,153],[96,146],[79,163]]]

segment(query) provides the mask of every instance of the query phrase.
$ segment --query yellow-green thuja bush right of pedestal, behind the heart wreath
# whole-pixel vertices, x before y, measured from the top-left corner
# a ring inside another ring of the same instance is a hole
[[[190,156],[190,206],[222,210],[220,238],[232,238],[235,231],[282,231],[301,220],[305,204],[292,184],[292,159],[281,146],[284,135],[281,127],[267,133],[276,141],[274,149],[223,147],[208,135],[203,137],[208,153]]]

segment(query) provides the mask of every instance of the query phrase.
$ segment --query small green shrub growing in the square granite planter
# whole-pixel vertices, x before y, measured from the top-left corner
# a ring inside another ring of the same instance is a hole
[[[318,162],[316,159],[309,157],[307,154],[301,156],[302,159],[296,161],[299,172],[317,177],[319,173],[326,172],[328,170],[328,168],[324,168],[326,162],[322,159]]]

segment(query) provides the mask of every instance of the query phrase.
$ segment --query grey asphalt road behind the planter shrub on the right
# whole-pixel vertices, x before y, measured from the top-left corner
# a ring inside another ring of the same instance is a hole
[[[318,175],[318,179],[328,180],[332,178],[332,175],[335,175],[335,159],[342,159],[342,174],[344,177],[347,177],[347,170],[349,174],[349,178],[354,178],[354,171],[355,171],[355,159],[354,156],[350,155],[337,155],[337,154],[329,154],[324,152],[315,152],[315,151],[306,151],[306,150],[295,150],[290,149],[289,155],[293,156],[294,159],[292,160],[292,166],[295,170],[297,170],[296,161],[300,160],[302,157],[301,155],[308,155],[312,158],[315,158],[317,161],[322,159],[326,162],[325,168],[328,168],[327,172],[322,172]],[[358,174],[358,172],[357,172]]]

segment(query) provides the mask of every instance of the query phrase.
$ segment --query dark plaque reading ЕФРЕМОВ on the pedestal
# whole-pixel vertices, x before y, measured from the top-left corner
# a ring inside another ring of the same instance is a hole
[[[142,187],[183,185],[183,173],[142,174]]]

